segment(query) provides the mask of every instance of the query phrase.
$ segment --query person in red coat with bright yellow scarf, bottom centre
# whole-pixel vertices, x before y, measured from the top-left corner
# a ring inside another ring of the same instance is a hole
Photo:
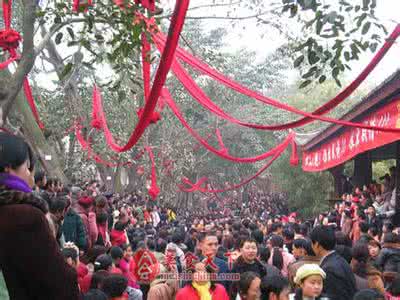
[[[225,287],[215,283],[215,278],[212,278],[213,275],[216,275],[212,267],[206,266],[203,262],[197,262],[194,264],[194,270],[192,271],[192,280],[178,291],[176,300],[229,299]]]

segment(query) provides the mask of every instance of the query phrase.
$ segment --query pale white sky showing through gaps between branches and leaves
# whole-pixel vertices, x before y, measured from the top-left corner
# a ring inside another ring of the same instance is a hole
[[[264,0],[265,2],[276,2],[271,0]],[[337,2],[338,0],[325,0],[326,4]],[[352,0],[352,4],[355,2],[362,2],[361,0]],[[207,5],[213,2],[221,2],[215,0],[192,0],[190,8],[201,5]],[[235,2],[235,1],[234,1]],[[397,23],[400,23],[400,0],[378,0],[378,6],[376,15],[383,22],[388,29],[389,33],[395,28]],[[173,7],[175,1],[173,0],[161,0],[162,5]],[[196,9],[193,11],[189,10],[188,16],[225,16],[227,13],[226,8],[204,8]],[[247,11],[239,11],[236,13],[237,16],[247,16],[254,13]],[[235,50],[239,48],[247,48],[257,53],[257,58],[261,61],[262,58],[268,53],[274,51],[281,44],[284,43],[285,38],[281,36],[276,30],[268,30],[266,27],[257,27],[255,20],[243,20],[240,21],[238,26],[232,27],[229,20],[207,20],[206,28],[215,27],[226,27],[229,29],[230,36],[226,40],[227,50]],[[244,28],[245,27],[245,28]],[[261,34],[264,33],[264,38],[261,38]],[[299,34],[301,34],[299,32]],[[400,40],[391,48],[382,62],[376,67],[371,73],[369,78],[366,80],[365,85],[369,88],[373,88],[383,82],[387,77],[394,73],[397,69],[400,69]],[[365,53],[360,57],[360,60],[351,64],[352,71],[348,71],[345,74],[347,81],[353,79],[359,74],[364,67],[371,61],[374,54],[371,52]]]

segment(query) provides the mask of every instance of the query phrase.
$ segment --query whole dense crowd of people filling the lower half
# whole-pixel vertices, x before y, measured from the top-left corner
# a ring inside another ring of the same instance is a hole
[[[383,180],[314,222],[260,190],[177,211],[95,180],[64,186],[0,132],[0,298],[400,299],[393,174]]]

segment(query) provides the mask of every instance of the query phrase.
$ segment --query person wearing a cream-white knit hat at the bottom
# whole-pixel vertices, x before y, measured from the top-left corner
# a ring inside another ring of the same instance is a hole
[[[305,264],[301,266],[294,278],[295,284],[299,287],[296,290],[295,300],[321,299],[321,293],[326,274],[316,264]],[[326,299],[326,298],[325,298]]]

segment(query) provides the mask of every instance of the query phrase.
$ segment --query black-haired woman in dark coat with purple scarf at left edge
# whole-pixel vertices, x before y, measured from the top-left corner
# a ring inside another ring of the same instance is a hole
[[[78,299],[68,266],[46,218],[46,202],[32,193],[34,158],[19,137],[0,132],[0,269],[11,299]]]

